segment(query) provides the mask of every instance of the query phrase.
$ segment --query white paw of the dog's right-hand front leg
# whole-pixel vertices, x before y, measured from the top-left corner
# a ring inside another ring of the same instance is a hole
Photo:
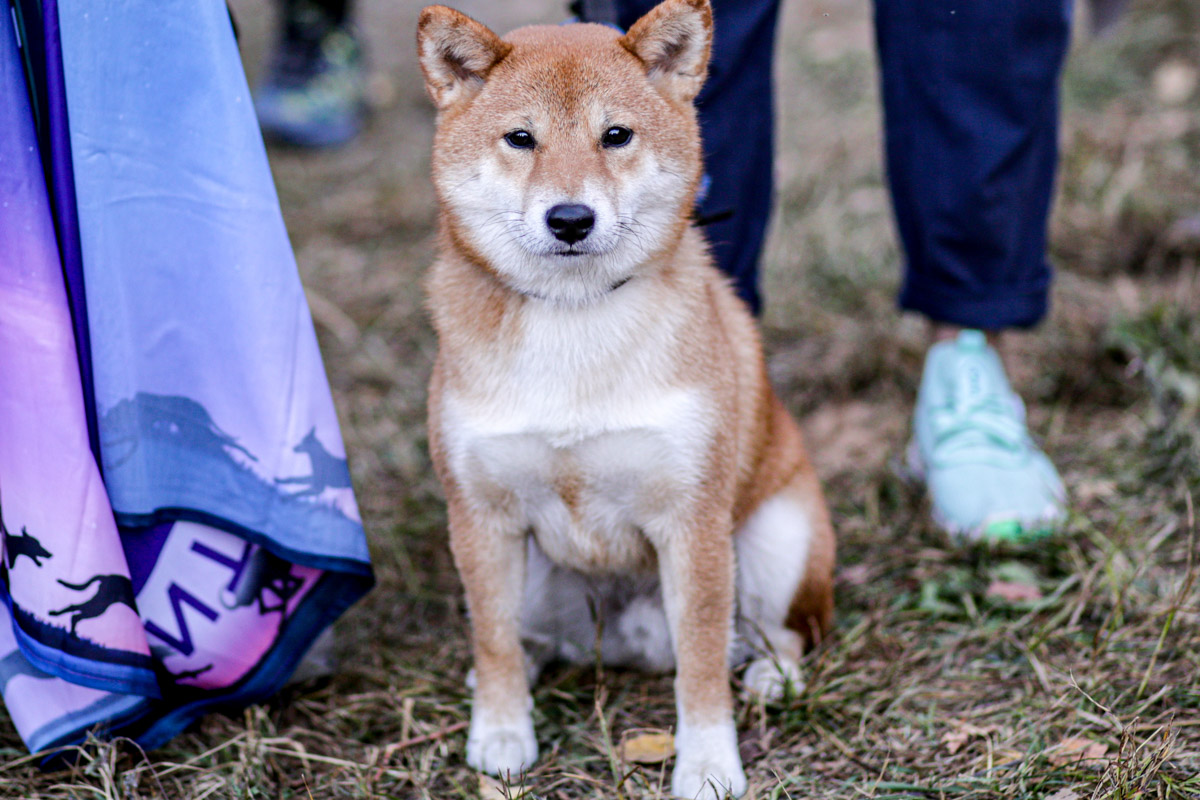
[[[725,800],[740,798],[746,790],[746,776],[738,754],[738,736],[733,723],[679,726],[676,735],[676,768],[671,774],[671,794],[686,800]]]

